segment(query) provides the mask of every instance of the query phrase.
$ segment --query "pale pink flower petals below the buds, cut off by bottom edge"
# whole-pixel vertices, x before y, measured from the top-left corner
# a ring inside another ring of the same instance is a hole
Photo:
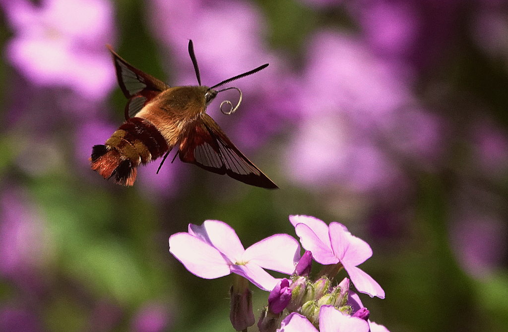
[[[322,306],[319,315],[320,332],[368,332],[369,324],[358,317],[342,314],[333,306]],[[317,332],[304,316],[292,313],[286,317],[278,332]]]

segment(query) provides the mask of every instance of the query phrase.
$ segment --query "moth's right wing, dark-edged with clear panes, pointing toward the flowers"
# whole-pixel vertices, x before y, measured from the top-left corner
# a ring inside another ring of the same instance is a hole
[[[202,169],[227,174],[243,183],[262,188],[278,188],[229,140],[225,132],[207,115],[202,114],[189,124],[180,143],[180,160]]]

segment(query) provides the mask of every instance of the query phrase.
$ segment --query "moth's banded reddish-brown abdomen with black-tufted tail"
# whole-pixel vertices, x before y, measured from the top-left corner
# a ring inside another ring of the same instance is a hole
[[[105,145],[92,148],[91,168],[105,179],[132,186],[139,164],[155,160],[168,150],[166,139],[150,121],[134,117],[123,123]]]

